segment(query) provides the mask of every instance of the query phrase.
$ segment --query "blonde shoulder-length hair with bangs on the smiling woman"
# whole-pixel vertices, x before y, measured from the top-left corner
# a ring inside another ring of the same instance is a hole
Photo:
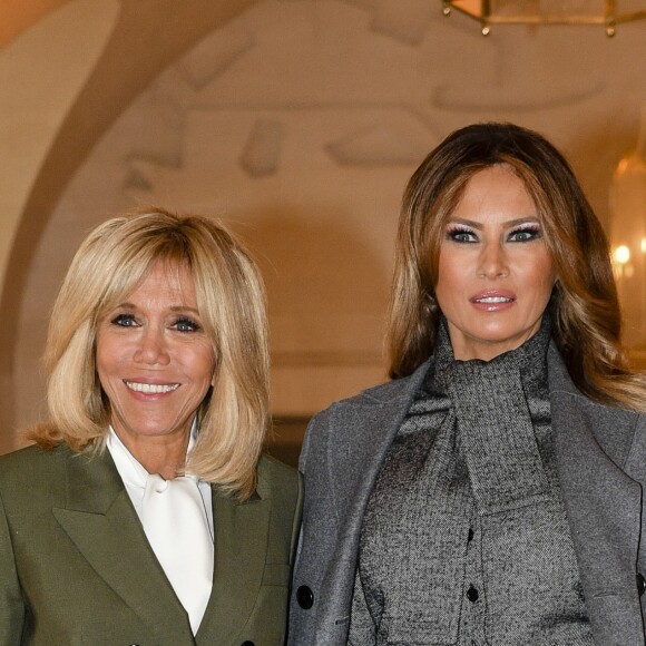
[[[110,403],[95,365],[97,326],[157,263],[188,266],[215,356],[186,471],[246,499],[268,422],[265,293],[248,253],[212,219],[155,208],[88,235],[53,306],[45,352],[50,419],[31,437],[43,448],[104,449]]]

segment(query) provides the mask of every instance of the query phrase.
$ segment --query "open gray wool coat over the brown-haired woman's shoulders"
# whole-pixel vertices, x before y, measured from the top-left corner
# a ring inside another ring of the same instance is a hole
[[[290,646],[346,643],[364,509],[427,369],[334,403],[310,424]],[[554,343],[548,374],[561,492],[595,643],[645,646],[646,415],[583,395]]]

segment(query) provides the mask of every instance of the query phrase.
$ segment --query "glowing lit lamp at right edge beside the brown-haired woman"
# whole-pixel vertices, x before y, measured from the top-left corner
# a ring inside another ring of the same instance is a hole
[[[637,148],[610,187],[610,253],[624,316],[624,342],[646,362],[646,104]]]

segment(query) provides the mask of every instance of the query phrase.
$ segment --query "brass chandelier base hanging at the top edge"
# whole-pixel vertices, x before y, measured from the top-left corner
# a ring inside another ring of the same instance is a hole
[[[618,23],[646,18],[645,0],[442,0],[442,4],[444,16],[456,9],[478,20],[483,36],[492,25],[599,25],[615,36]]]

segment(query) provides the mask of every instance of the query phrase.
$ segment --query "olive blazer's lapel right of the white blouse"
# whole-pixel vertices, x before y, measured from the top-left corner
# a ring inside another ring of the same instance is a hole
[[[244,503],[212,487],[215,529],[213,590],[197,644],[228,644],[247,623],[263,580],[271,500]]]

